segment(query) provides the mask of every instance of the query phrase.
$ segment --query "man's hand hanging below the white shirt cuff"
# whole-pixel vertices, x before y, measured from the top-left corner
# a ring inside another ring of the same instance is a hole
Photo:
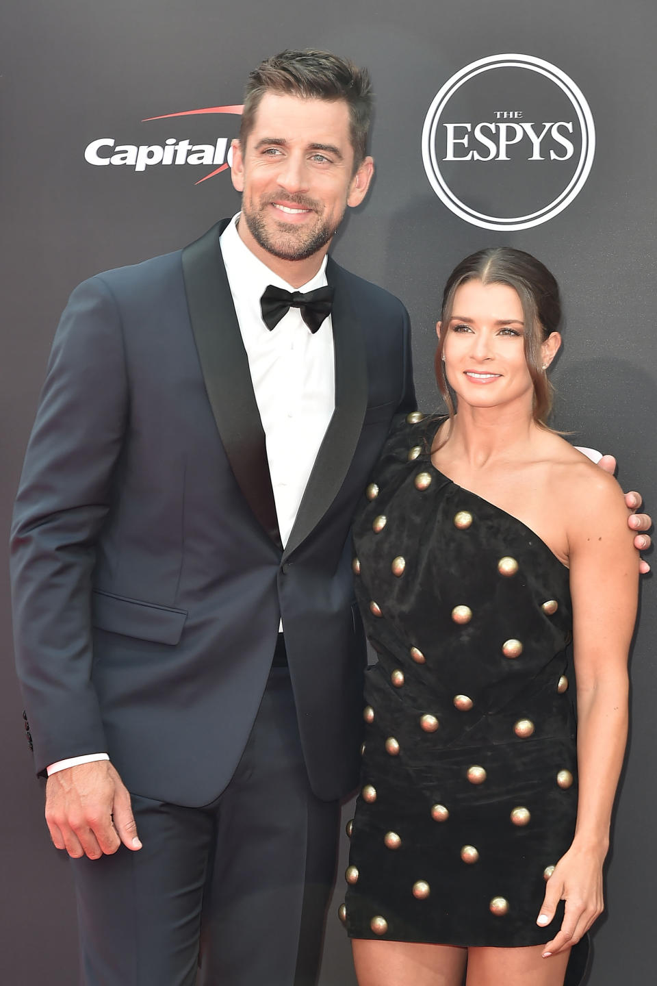
[[[142,848],[130,795],[111,763],[97,760],[59,770],[45,786],[45,820],[57,849],[97,860],[123,843]]]

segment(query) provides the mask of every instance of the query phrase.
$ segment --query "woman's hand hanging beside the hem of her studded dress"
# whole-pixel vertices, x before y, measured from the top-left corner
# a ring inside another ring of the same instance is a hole
[[[604,854],[571,846],[560,858],[548,885],[536,923],[550,924],[559,900],[565,900],[565,912],[558,935],[548,942],[543,957],[576,945],[604,908],[602,864]]]

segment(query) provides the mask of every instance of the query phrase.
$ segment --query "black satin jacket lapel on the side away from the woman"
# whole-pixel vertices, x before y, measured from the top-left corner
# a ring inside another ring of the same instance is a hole
[[[187,307],[230,468],[253,514],[282,547],[265,433],[219,246],[226,226],[219,223],[182,251]]]

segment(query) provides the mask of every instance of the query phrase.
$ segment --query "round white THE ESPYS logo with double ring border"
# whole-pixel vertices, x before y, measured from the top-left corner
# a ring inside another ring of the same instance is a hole
[[[492,55],[438,92],[422,150],[433,191],[457,216],[486,230],[526,230],[581,191],[595,126],[581,90],[556,65]]]

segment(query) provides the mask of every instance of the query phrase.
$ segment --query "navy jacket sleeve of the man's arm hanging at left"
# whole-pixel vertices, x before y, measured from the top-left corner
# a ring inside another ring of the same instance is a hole
[[[127,414],[121,320],[95,277],[61,317],[12,525],[16,664],[38,773],[107,748],[91,679],[91,579]]]

